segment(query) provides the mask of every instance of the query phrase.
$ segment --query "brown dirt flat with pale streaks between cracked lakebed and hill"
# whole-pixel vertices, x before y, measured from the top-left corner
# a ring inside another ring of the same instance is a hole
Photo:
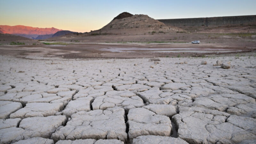
[[[223,47],[218,44],[179,43],[95,43],[68,45],[1,45],[1,55],[16,57],[88,58],[149,58],[218,55],[253,52],[255,48]]]

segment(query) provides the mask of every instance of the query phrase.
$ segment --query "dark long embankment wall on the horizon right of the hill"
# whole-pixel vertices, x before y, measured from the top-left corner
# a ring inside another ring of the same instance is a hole
[[[224,26],[256,24],[256,15],[159,20],[167,26]]]

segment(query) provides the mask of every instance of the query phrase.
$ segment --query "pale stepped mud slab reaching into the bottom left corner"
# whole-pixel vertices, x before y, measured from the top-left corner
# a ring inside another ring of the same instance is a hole
[[[0,143],[11,143],[33,137],[50,138],[66,122],[66,116],[28,117],[19,127],[0,129]]]

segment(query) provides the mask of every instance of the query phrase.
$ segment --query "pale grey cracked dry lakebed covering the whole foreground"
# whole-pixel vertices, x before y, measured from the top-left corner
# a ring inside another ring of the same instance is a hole
[[[255,56],[0,59],[0,144],[256,143]]]

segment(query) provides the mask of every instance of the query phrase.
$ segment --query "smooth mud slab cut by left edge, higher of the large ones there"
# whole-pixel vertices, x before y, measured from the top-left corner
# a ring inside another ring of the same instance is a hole
[[[22,108],[21,103],[12,101],[0,101],[0,119],[9,118],[10,114]]]

